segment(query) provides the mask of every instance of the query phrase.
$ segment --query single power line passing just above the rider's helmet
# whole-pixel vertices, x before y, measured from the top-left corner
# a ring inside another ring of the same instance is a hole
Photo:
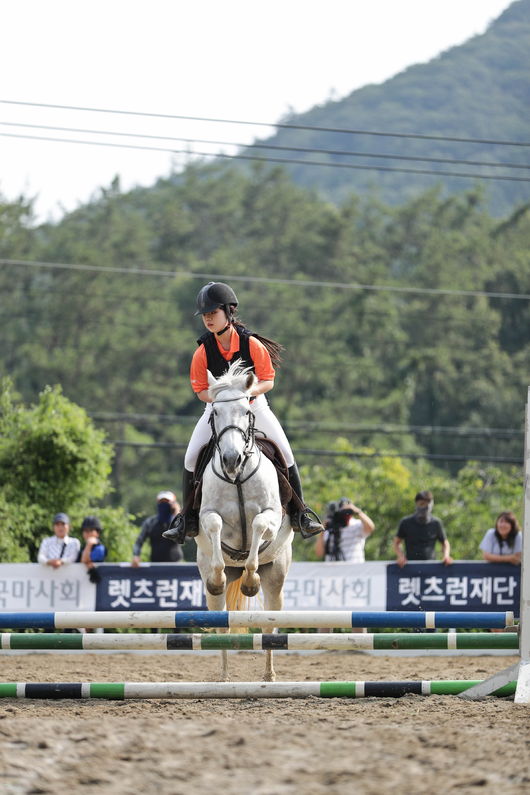
[[[227,273],[199,273],[196,271],[169,271],[157,268],[122,268],[115,266],[103,265],[85,265],[80,263],[62,263],[62,262],[41,262],[37,260],[18,260],[18,259],[5,259],[0,258],[0,265],[15,266],[15,267],[29,267],[29,268],[47,268],[50,270],[69,270],[69,271],[88,271],[94,273],[119,273],[128,276],[167,276],[169,278],[185,277],[188,279],[201,279],[201,280],[215,280],[223,279],[232,282],[248,282],[249,284],[285,284],[291,287],[326,287],[332,290],[371,290],[374,292],[391,292],[391,293],[415,293],[417,295],[455,295],[464,298],[482,297],[482,298],[506,298],[516,299],[521,301],[530,300],[529,293],[500,293],[488,292],[487,290],[451,290],[437,287],[398,287],[393,285],[379,285],[379,284],[359,284],[356,282],[328,282],[317,281],[309,279],[280,279],[277,277],[267,276],[241,276],[239,274]]]

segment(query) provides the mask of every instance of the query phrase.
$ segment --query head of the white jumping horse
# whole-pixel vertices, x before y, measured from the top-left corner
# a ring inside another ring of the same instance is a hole
[[[256,381],[254,373],[237,362],[220,378],[208,370],[212,432],[223,474],[232,481],[241,474],[254,447],[250,397]]]

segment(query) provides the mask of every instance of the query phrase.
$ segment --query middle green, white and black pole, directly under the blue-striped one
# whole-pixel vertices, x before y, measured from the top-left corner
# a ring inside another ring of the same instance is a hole
[[[16,633],[1,635],[2,649],[151,649],[156,651],[233,650],[387,650],[395,649],[513,649],[519,648],[516,632],[412,632],[412,633],[301,633],[289,634],[73,634]]]

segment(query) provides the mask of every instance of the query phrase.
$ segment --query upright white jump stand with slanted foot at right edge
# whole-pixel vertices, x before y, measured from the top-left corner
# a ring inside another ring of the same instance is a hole
[[[520,659],[515,665],[477,683],[460,698],[481,699],[497,688],[515,680],[516,704],[530,704],[530,387],[528,387],[525,415],[524,445],[524,498],[523,498],[523,554],[521,557],[521,607],[520,607]]]

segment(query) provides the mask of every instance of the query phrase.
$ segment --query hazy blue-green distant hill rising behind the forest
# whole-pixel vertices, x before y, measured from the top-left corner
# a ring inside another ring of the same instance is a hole
[[[416,133],[495,141],[530,140],[530,0],[517,0],[481,36],[453,47],[426,64],[412,66],[381,85],[367,85],[339,101],[291,115],[282,123],[346,130]],[[317,189],[334,202],[355,193],[375,192],[383,201],[402,203],[431,188],[438,179],[448,192],[469,189],[475,180],[460,177],[322,167],[311,160],[385,168],[505,174],[528,177],[511,168],[433,164],[370,158],[369,154],[449,158],[528,164],[529,149],[487,143],[393,138],[279,128],[256,143],[279,147],[347,150],[363,157],[246,149],[245,154],[303,161],[287,166],[293,180]],[[528,199],[530,183],[481,180],[488,206],[496,214]]]

